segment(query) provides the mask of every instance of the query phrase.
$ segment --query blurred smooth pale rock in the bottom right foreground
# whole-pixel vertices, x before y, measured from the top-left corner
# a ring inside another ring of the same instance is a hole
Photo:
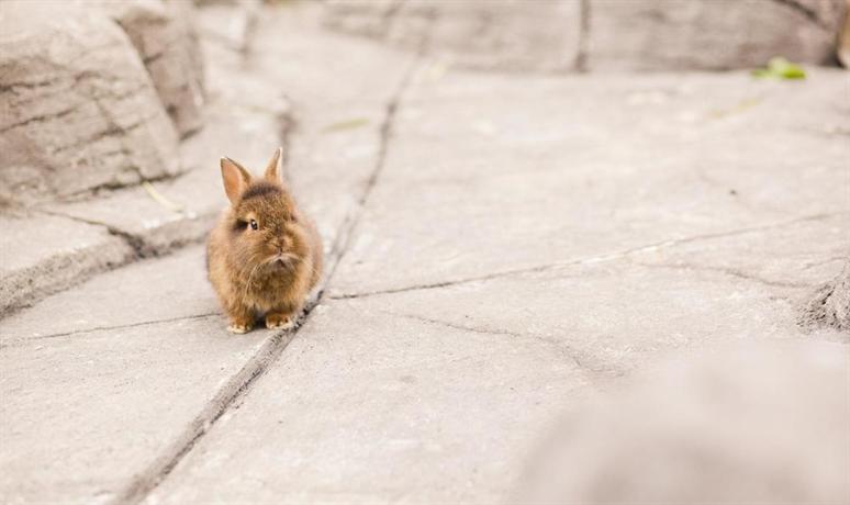
[[[847,346],[689,359],[569,416],[516,503],[847,503]]]

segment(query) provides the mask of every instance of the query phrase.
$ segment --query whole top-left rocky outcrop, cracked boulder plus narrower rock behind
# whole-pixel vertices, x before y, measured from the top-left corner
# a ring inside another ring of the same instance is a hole
[[[203,124],[203,67],[181,0],[7,2],[0,200],[63,200],[179,172]]]

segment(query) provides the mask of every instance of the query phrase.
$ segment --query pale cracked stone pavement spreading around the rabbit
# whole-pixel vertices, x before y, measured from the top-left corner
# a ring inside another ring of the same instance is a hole
[[[228,9],[200,14],[195,168],[157,186],[181,210],[44,209],[148,254],[0,322],[1,502],[501,502],[559,415],[667,359],[817,344],[847,377],[847,335],[795,324],[850,250],[847,72],[452,70],[304,7],[246,56]],[[234,336],[198,244],[215,160],[278,143],[324,294]]]

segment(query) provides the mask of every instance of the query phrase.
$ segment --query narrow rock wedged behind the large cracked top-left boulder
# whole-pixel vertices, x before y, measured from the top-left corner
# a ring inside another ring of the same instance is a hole
[[[178,133],[203,125],[203,58],[186,0],[103,2],[138,50]]]

